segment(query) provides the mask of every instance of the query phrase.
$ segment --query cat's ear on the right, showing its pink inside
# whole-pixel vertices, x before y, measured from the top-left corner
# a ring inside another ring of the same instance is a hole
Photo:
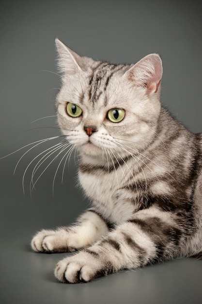
[[[126,72],[129,81],[137,86],[143,86],[148,94],[156,93],[161,83],[163,68],[158,54],[150,54],[142,58]]]

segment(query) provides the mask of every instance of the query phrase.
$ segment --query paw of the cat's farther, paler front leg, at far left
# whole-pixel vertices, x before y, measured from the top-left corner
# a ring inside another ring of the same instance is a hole
[[[67,238],[54,230],[42,230],[31,240],[31,248],[36,252],[74,252],[75,248],[67,245]]]

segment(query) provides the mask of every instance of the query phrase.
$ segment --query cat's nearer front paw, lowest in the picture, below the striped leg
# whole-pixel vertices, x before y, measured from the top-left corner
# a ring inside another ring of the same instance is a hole
[[[82,283],[112,272],[111,263],[99,259],[96,253],[79,252],[58,262],[55,277],[63,283]]]

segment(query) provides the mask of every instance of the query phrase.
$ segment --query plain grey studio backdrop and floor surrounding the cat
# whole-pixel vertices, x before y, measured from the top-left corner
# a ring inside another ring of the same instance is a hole
[[[202,132],[202,18],[200,1],[49,0],[1,1],[0,157],[60,134],[54,99],[60,86],[55,37],[81,55],[135,63],[151,52],[163,61],[162,102],[187,128]],[[48,70],[51,72],[45,72]],[[46,128],[44,128],[46,127]],[[55,128],[50,128],[55,127]],[[53,269],[65,254],[37,254],[32,235],[71,223],[88,205],[76,183],[74,155],[63,184],[53,162],[30,195],[31,160],[58,141],[0,160],[0,302],[183,303],[202,302],[202,262],[178,259],[80,285],[56,281]],[[60,159],[60,158],[59,158]]]

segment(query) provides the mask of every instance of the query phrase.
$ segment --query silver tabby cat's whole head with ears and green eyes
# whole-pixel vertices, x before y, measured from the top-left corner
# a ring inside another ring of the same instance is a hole
[[[113,65],[80,57],[58,39],[56,46],[62,72],[56,106],[67,140],[91,158],[144,149],[155,136],[160,114],[159,55],[135,65]]]

